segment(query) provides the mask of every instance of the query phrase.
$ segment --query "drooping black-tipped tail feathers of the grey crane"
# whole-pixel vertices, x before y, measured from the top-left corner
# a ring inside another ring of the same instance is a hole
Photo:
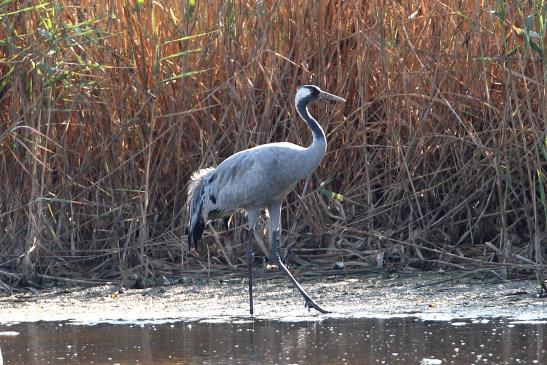
[[[197,243],[203,236],[205,219],[203,217],[203,203],[205,197],[204,187],[208,178],[215,171],[214,168],[201,169],[192,174],[190,186],[188,187],[188,248],[197,248]]]

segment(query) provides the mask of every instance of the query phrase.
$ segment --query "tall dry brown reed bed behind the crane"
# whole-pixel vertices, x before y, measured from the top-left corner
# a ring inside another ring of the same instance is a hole
[[[0,288],[242,267],[241,216],[188,255],[187,181],[309,144],[307,83],[347,103],[312,108],[328,152],[284,205],[286,260],[543,284],[546,15],[539,0],[1,2]]]

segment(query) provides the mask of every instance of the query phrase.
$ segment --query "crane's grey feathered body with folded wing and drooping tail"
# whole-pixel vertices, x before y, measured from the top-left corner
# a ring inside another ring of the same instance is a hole
[[[188,189],[190,245],[201,239],[208,219],[282,200],[303,177],[297,163],[302,149],[291,143],[261,145],[195,172]]]

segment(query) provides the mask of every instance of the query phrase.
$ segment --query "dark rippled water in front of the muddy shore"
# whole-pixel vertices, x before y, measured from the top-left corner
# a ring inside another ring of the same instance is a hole
[[[507,319],[35,322],[0,326],[0,348],[4,364],[545,364],[546,332]]]

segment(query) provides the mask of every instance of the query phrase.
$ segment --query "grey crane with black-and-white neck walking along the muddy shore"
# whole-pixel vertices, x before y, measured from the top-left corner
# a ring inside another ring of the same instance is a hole
[[[314,85],[300,87],[294,103],[300,117],[308,124],[312,144],[305,148],[288,142],[269,143],[240,151],[216,168],[194,172],[188,188],[188,244],[192,249],[201,239],[209,220],[225,218],[237,211],[246,211],[249,225],[247,262],[249,279],[249,311],[253,315],[253,230],[262,209],[268,209],[271,267],[280,267],[304,297],[307,308],[328,313],[321,308],[296,281],[277,252],[281,203],[301,179],[319,165],[327,148],[323,128],[308,112],[308,104],[319,99],[345,102],[339,96],[322,91]]]

